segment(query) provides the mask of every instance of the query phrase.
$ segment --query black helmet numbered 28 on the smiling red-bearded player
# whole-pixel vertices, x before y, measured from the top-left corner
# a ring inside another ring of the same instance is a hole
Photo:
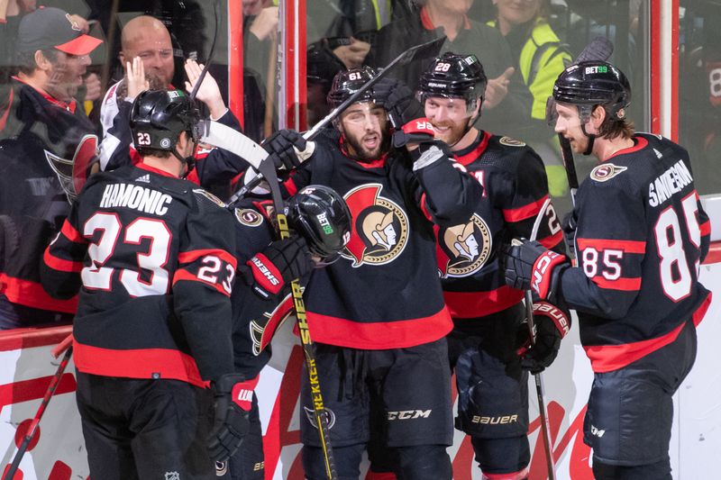
[[[421,75],[418,100],[423,104],[426,96],[463,98],[473,109],[476,100],[482,101],[487,85],[488,77],[475,55],[447,51]]]

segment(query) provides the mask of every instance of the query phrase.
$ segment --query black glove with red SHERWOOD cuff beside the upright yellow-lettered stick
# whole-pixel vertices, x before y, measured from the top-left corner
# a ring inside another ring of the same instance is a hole
[[[276,240],[247,262],[251,267],[252,288],[262,298],[277,295],[283,287],[313,269],[306,240],[291,237]]]

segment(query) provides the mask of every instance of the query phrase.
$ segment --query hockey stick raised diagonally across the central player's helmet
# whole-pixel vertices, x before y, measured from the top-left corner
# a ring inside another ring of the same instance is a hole
[[[346,98],[342,104],[335,107],[331,113],[325,115],[323,120],[315,123],[312,129],[306,131],[306,133],[303,134],[303,138],[306,140],[315,139],[318,133],[320,133],[328,123],[333,122],[333,120],[335,120],[346,108],[348,108],[348,105],[355,103],[360,98],[360,96],[368,92],[371,86],[376,85],[381,78],[386,77],[388,75],[388,72],[390,72],[390,70],[395,68],[397,65],[403,66],[416,59],[428,59],[430,57],[437,56],[438,53],[441,51],[441,47],[443,46],[443,42],[445,41],[445,39],[445,36],[443,36],[441,38],[435,39],[434,41],[427,41],[425,43],[421,43],[420,45],[415,45],[415,47],[411,47],[410,49],[398,55],[395,59],[388,63],[388,66],[386,66],[386,68],[380,70],[378,75],[366,82],[358,89],[358,91],[353,92],[353,94]],[[306,155],[309,157],[311,154]],[[302,155],[298,156],[302,157]],[[247,195],[248,192],[250,192],[253,188],[260,184],[262,179],[263,178],[260,177],[260,175],[253,177],[246,185],[242,186],[241,189],[238,190],[235,195],[233,195],[233,197],[231,197],[230,203],[233,204],[233,202],[236,202],[239,198]]]

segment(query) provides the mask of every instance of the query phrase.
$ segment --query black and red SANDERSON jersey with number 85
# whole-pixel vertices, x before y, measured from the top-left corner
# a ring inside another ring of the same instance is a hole
[[[710,302],[698,283],[710,223],[685,149],[634,135],[634,147],[591,171],[575,213],[578,267],[562,273],[561,292],[579,312],[594,371],[624,367],[700,322]]]

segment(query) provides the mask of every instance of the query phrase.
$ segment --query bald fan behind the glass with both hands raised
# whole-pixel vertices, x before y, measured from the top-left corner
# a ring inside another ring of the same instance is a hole
[[[128,127],[135,96],[145,89],[176,88],[170,85],[175,72],[170,34],[160,20],[147,15],[133,18],[123,27],[121,41],[120,59],[125,77],[110,87],[100,109],[104,137],[100,144],[100,168],[103,170],[140,160]],[[195,86],[202,68],[195,60],[187,60],[185,87],[188,92]],[[197,99],[205,104],[212,120],[240,131],[240,122],[225,106],[220,88],[210,74],[205,75]],[[226,191],[228,181],[248,167],[241,158],[219,149],[200,149],[196,160],[196,168],[188,180],[213,189],[221,196],[230,194]]]

